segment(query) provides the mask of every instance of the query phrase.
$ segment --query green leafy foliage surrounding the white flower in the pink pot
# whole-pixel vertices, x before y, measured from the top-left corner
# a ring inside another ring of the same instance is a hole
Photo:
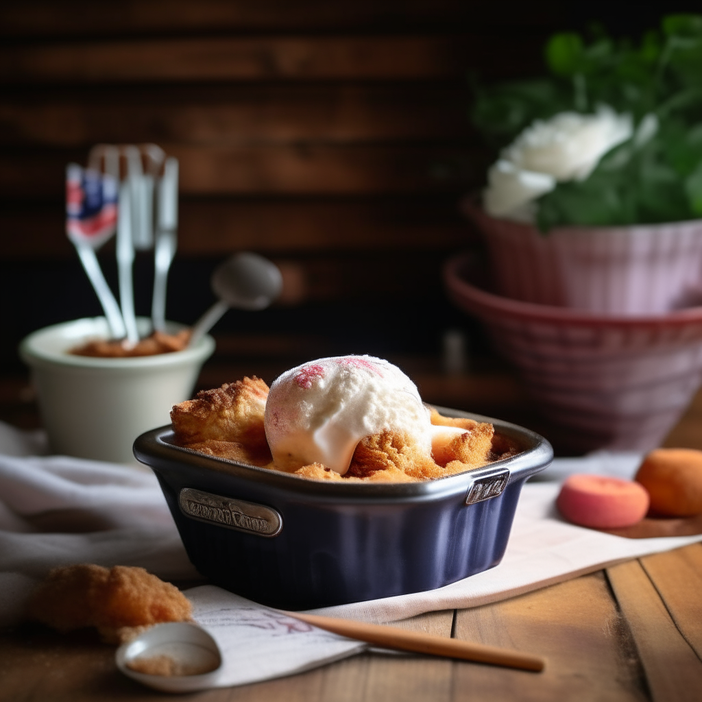
[[[638,42],[599,29],[589,42],[556,34],[545,62],[546,77],[476,88],[472,120],[489,145],[502,149],[535,120],[601,105],[630,114],[635,129],[588,178],[536,200],[541,230],[702,216],[702,15],[665,17]]]

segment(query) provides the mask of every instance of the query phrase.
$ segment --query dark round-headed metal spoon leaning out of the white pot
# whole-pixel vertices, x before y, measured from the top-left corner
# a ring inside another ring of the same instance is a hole
[[[274,263],[256,253],[237,253],[216,267],[210,279],[219,298],[192,327],[190,346],[195,345],[230,308],[265,310],[279,296],[283,277]]]

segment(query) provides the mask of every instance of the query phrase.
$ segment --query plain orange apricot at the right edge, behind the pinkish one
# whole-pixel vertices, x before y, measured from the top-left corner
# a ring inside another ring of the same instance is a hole
[[[702,514],[702,451],[651,451],[635,479],[649,491],[651,512],[661,517]]]

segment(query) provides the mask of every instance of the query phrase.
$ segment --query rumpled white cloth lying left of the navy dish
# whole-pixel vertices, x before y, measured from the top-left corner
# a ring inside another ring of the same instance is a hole
[[[161,578],[200,576],[150,471],[68,456],[32,456],[41,432],[0,422],[0,626],[28,592],[73,563],[141,566]]]

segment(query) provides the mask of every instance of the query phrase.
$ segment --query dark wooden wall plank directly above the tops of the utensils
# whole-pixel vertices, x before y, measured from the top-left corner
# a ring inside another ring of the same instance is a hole
[[[465,88],[444,84],[120,86],[4,95],[0,145],[465,140]]]

